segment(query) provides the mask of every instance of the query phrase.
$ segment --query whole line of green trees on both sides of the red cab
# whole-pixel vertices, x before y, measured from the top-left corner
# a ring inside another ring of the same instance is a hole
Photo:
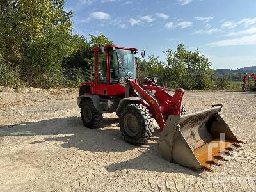
[[[93,47],[113,44],[105,35],[72,34],[65,0],[0,1],[0,86],[77,87],[93,74]],[[140,79],[158,77],[170,88],[218,87],[211,62],[180,43],[140,60]],[[222,81],[222,80],[221,80]],[[220,84],[220,83],[219,83]]]

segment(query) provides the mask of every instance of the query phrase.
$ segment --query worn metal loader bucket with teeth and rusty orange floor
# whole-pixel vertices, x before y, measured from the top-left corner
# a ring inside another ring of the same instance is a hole
[[[240,147],[221,115],[222,106],[188,115],[170,115],[158,141],[168,161],[194,169],[210,170],[234,147]]]

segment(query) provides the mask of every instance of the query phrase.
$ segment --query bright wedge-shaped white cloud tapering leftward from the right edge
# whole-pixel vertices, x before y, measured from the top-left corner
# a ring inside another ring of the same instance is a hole
[[[211,46],[223,47],[231,45],[256,45],[256,35],[242,36],[241,38],[230,38],[226,40],[221,40],[218,42],[212,42]]]

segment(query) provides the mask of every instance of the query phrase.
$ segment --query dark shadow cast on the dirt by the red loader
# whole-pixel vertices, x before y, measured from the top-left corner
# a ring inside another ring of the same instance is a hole
[[[157,135],[147,145],[137,147],[126,143],[118,129],[118,118],[104,118],[101,129],[87,129],[83,126],[80,118],[55,118],[42,120],[40,122],[24,123],[19,125],[8,125],[0,127],[0,137],[3,136],[45,136],[38,141],[29,141],[31,145],[60,141],[63,148],[77,148],[91,152],[127,152],[138,148],[140,154],[134,159],[124,156],[124,161],[106,166],[109,172],[116,170],[135,169],[156,172],[184,173],[188,175],[199,175],[189,168],[184,168],[163,159],[156,144]],[[110,128],[111,127],[111,128]],[[30,140],[30,138],[28,138]],[[118,156],[119,154],[116,154]],[[105,156],[99,154],[99,156]],[[104,157],[102,157],[104,158]]]

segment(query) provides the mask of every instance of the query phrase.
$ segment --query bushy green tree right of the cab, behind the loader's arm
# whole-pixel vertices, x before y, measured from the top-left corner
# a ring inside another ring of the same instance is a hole
[[[175,51],[164,51],[164,56],[165,71],[171,86],[186,89],[211,88],[211,62],[198,49],[194,52],[186,51],[184,44],[180,43]]]

